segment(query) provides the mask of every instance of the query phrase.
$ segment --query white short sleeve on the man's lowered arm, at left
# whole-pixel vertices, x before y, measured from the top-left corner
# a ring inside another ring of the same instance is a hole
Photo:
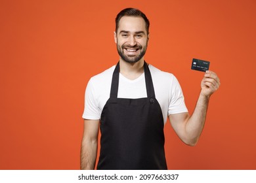
[[[87,120],[100,119],[100,108],[98,107],[92,78],[89,80],[85,90],[85,108],[83,111],[83,118]]]

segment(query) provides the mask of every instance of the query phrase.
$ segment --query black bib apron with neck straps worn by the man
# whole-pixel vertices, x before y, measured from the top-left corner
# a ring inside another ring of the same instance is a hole
[[[119,62],[112,76],[110,99],[100,120],[100,158],[97,169],[167,169],[163,114],[144,61],[148,97],[117,98]]]

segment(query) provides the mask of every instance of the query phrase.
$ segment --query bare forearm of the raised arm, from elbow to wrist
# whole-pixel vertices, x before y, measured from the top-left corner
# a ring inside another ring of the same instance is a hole
[[[198,102],[196,103],[196,108],[186,123],[186,134],[190,140],[190,142],[188,142],[190,145],[195,145],[202,133],[208,104],[209,96],[205,96],[200,93]]]

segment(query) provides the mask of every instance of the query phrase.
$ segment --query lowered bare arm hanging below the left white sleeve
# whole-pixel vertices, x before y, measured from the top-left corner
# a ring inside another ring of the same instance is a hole
[[[98,147],[99,122],[100,120],[84,120],[80,157],[80,168],[83,170],[95,169],[95,161]]]

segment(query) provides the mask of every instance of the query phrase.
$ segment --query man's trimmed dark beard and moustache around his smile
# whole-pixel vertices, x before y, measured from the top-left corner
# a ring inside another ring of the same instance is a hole
[[[140,45],[140,44],[136,44],[135,46],[130,46],[129,44],[123,44],[121,46],[118,45],[118,42],[117,42],[117,52],[119,54],[119,56],[124,60],[126,61],[127,63],[136,63],[137,61],[139,61],[140,59],[143,58],[143,56],[146,54],[146,48],[148,46],[148,42],[146,42],[146,46],[144,46],[144,48]],[[129,55],[125,55],[124,53],[124,50],[125,49],[137,49],[139,50],[139,54],[133,56],[129,56]]]

